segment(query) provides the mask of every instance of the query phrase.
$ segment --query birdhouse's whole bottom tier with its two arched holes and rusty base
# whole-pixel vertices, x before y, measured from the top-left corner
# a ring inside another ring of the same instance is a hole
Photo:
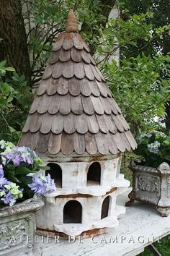
[[[89,237],[104,233],[106,228],[115,228],[119,224],[117,217],[125,213],[125,207],[117,205],[116,198],[125,190],[114,187],[107,195],[98,197],[83,194],[58,196],[54,200],[43,197],[45,207],[37,213],[37,234]]]

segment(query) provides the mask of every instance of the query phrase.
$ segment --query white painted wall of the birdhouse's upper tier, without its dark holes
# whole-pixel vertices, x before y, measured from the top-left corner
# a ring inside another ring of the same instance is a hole
[[[62,189],[58,188],[56,194],[53,195],[68,195],[67,191],[71,191],[71,189],[90,189],[87,186],[87,171],[92,163],[95,161],[87,161],[87,162],[63,162],[57,163],[58,166],[61,166],[62,170]],[[106,189],[111,189],[115,187],[115,181],[124,182],[125,180],[120,174],[120,163],[121,158],[115,158],[112,160],[106,161],[97,161],[101,166],[101,186]],[[56,163],[55,161],[51,161],[50,163]],[[122,177],[122,178],[121,178]],[[58,181],[56,181],[56,184]],[[96,186],[95,186],[96,187]],[[120,186],[118,186],[120,187]],[[127,183],[125,187],[128,187]],[[98,188],[102,189],[101,187]],[[65,192],[66,191],[66,192]],[[73,190],[76,193],[76,190]],[[106,191],[106,190],[104,190]],[[108,191],[108,190],[107,190]],[[106,192],[107,192],[106,191]],[[84,193],[86,194],[86,193]],[[104,194],[102,194],[104,195]],[[48,195],[47,195],[48,196]]]

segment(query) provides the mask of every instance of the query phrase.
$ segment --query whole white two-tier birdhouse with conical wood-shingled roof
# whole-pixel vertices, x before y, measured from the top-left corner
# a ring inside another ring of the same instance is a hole
[[[58,35],[19,145],[36,150],[55,179],[37,213],[39,234],[91,236],[118,225],[117,195],[130,182],[121,153],[136,148],[130,127],[105,83],[71,10]]]

